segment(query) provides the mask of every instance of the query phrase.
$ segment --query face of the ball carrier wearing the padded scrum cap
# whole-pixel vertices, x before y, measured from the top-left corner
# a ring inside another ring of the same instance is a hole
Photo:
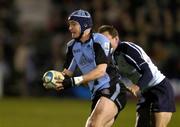
[[[80,24],[73,20],[70,20],[68,23],[69,23],[69,31],[71,32],[72,38],[78,38],[81,33]]]

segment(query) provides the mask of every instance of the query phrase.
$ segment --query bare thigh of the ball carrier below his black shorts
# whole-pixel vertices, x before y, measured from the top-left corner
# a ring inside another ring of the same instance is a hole
[[[118,108],[116,104],[112,100],[102,96],[92,111],[90,119],[95,120],[95,122],[103,121],[103,124],[106,125],[108,122],[114,120],[117,113]]]

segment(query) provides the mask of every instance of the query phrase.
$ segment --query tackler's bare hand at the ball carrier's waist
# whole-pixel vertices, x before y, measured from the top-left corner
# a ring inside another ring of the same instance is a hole
[[[139,86],[137,85],[131,85],[127,87],[127,89],[135,96],[135,97],[140,97],[141,96],[141,91]]]

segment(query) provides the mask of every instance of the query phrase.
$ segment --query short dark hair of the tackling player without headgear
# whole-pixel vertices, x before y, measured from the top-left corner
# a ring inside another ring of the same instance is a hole
[[[111,25],[102,25],[98,28],[99,33],[108,32],[112,37],[119,36],[117,29]]]

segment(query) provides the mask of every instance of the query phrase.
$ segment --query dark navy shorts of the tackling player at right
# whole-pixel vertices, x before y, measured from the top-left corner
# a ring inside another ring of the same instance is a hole
[[[167,78],[158,85],[150,88],[142,94],[137,104],[137,111],[140,108],[150,106],[151,112],[175,112],[175,98],[173,88]]]

